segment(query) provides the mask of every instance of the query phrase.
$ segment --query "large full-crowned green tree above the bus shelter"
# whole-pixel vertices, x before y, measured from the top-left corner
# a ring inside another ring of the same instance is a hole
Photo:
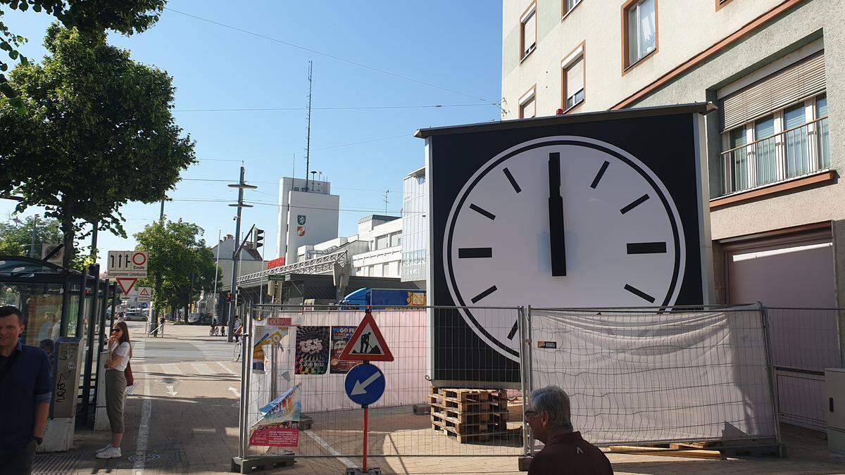
[[[0,96],[0,194],[19,195],[17,211],[44,206],[66,249],[85,221],[125,237],[120,207],[163,199],[194,163],[194,142],[173,120],[172,78],[105,33],[52,25],[44,46],[41,64],[10,74],[25,112]]]

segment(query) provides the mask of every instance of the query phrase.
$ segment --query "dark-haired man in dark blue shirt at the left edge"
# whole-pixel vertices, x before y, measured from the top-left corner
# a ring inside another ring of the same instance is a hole
[[[32,472],[50,412],[50,360],[20,341],[25,328],[18,308],[0,307],[0,475]]]

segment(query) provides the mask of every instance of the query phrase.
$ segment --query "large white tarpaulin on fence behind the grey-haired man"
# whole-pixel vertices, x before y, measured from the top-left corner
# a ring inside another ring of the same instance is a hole
[[[532,308],[532,387],[571,397],[597,444],[776,436],[759,308],[684,314]]]

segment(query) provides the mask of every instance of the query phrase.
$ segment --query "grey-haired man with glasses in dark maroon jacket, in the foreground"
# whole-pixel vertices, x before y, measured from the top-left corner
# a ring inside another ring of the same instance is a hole
[[[606,475],[613,473],[602,450],[572,429],[570,396],[558,386],[531,394],[526,421],[534,438],[545,444],[528,469],[528,475]]]

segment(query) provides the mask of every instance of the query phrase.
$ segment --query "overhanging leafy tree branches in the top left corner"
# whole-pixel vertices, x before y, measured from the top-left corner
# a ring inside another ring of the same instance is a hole
[[[18,47],[26,39],[15,35],[3,24],[4,6],[22,12],[32,10],[51,14],[63,25],[75,26],[84,33],[115,30],[132,35],[154,25],[165,4],[166,0],[0,0],[0,50],[13,60],[28,63],[26,57],[18,52]],[[0,94],[7,96],[15,107],[22,110],[23,102],[17,91],[6,84],[3,72],[7,70],[8,63],[0,58]]]

